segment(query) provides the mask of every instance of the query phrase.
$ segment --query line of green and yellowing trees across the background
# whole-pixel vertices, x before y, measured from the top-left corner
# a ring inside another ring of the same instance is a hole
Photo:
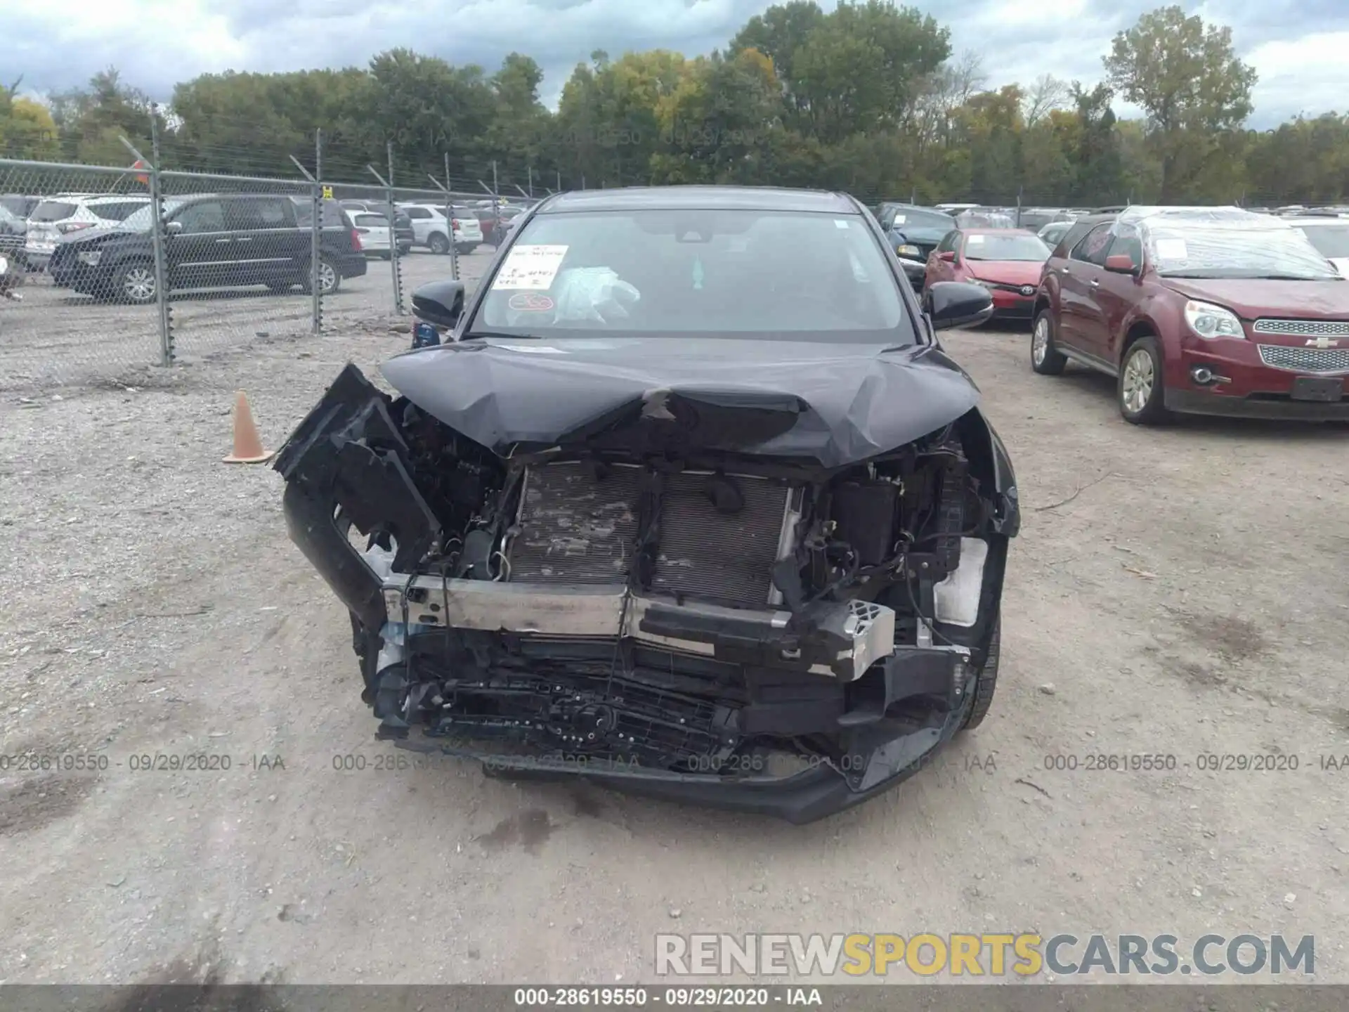
[[[595,51],[556,111],[541,82],[519,53],[488,73],[394,49],[367,67],[202,74],[155,107],[109,69],[46,105],[0,86],[0,154],[124,165],[119,136],[147,151],[154,117],[167,167],[285,178],[291,157],[313,170],[321,130],[325,178],[371,182],[366,166],[391,161],[407,186],[444,181],[448,155],[472,189],[495,170],[536,189],[739,182],[867,201],[1349,200],[1349,115],[1248,128],[1255,70],[1230,28],[1180,7],[1116,35],[1097,82],[986,88],[946,26],[889,0],[791,0],[710,55]],[[1116,100],[1145,115],[1118,119]]]

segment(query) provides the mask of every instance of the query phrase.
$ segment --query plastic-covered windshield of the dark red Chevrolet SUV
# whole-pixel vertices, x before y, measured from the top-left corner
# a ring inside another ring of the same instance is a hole
[[[1148,252],[1164,278],[1341,279],[1296,228],[1152,227]]]

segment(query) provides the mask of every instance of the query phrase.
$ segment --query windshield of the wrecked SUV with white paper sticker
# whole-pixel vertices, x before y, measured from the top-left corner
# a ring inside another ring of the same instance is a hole
[[[861,215],[540,215],[491,279],[473,331],[913,343]]]

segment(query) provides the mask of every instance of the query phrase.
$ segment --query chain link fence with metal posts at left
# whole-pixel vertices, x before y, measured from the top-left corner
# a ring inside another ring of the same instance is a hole
[[[130,148],[130,146],[128,146]],[[116,379],[260,339],[387,325],[429,281],[472,285],[509,204],[393,185],[0,159],[0,389]],[[320,159],[316,159],[320,161]],[[320,167],[320,166],[316,166]]]

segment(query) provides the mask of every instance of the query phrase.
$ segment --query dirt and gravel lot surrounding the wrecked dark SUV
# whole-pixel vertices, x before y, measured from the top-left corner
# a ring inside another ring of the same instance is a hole
[[[1024,335],[951,336],[1025,505],[998,698],[943,765],[795,828],[372,768],[393,750],[281,480],[220,457],[236,389],[275,447],[344,362],[406,341],[264,339],[0,401],[3,750],[108,760],[0,773],[0,978],[638,982],[661,931],[1037,930],[1314,934],[1317,980],[1349,981],[1349,772],[1319,761],[1349,753],[1344,429],[1141,430],[1109,381],[1033,376]],[[1175,769],[1045,768],[1099,753]]]

